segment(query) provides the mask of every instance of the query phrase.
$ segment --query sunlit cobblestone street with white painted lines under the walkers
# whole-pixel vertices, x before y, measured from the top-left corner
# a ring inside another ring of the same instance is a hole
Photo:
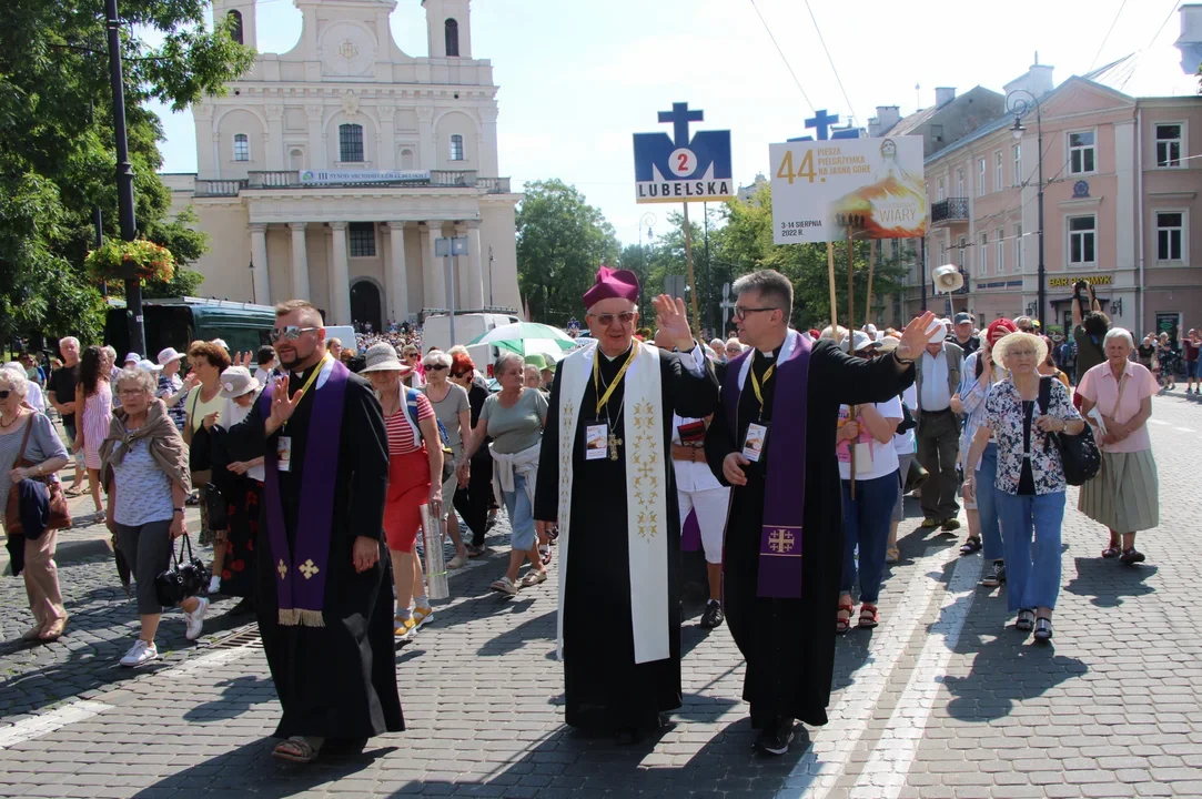
[[[409,729],[310,767],[270,757],[279,708],[252,618],[226,615],[233,600],[196,644],[166,614],[162,660],[123,669],[133,602],[111,554],[76,548],[60,562],[71,622],[55,644],[19,640],[24,586],[0,578],[0,795],[1200,797],[1202,401],[1177,390],[1153,413],[1161,526],[1139,536],[1148,562],[1101,560],[1106,531],[1071,490],[1055,638],[1037,645],[1004,628],[1005,589],[977,588],[980,555],[959,557],[959,535],[915,531],[911,502],[882,625],[839,640],[831,723],[799,727],[775,759],[751,753],[742,660],[725,626],[697,626],[697,601],[672,726],[629,747],[565,727],[555,579],[512,600],[487,588],[507,557],[504,520],[398,649]]]

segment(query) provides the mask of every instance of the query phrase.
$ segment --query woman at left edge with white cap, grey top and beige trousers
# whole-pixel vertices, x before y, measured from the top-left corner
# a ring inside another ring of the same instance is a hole
[[[44,413],[24,405],[32,383],[23,374],[0,369],[0,497],[23,481],[58,481],[54,472],[67,465],[67,449]],[[30,500],[26,500],[30,501]],[[5,532],[8,520],[5,521]],[[67,624],[59,589],[59,571],[54,565],[58,530],[34,535],[24,530],[24,578],[34,626],[22,634],[24,640],[56,640]]]

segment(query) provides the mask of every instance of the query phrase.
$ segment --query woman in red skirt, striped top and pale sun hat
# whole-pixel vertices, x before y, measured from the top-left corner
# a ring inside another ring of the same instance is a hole
[[[417,530],[422,506],[430,515],[442,513],[442,443],[434,407],[426,394],[401,381],[409,366],[397,359],[397,348],[387,341],[368,347],[363,371],[380,398],[388,431],[388,493],[383,507],[383,532],[397,585],[397,615],[393,631],[407,639],[434,618],[426,596],[422,560],[417,556]],[[410,601],[413,602],[410,609]]]

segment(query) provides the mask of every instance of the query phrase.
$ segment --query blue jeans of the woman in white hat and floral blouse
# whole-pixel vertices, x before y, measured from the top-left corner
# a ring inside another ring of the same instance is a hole
[[[1036,496],[996,491],[996,499],[1001,526],[1006,530],[1006,604],[1010,612],[1055,608],[1060,594],[1064,491]]]

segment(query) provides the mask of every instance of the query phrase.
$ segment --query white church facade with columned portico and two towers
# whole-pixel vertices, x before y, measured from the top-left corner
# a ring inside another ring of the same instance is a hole
[[[416,0],[411,0],[416,1]],[[328,324],[519,305],[514,207],[499,177],[496,90],[471,53],[470,0],[422,0],[429,55],[403,53],[394,0],[293,0],[300,41],[261,53],[192,107],[196,174],[165,174],[210,251],[201,293],[304,298]],[[255,0],[213,0],[256,46]],[[466,237],[448,263],[435,240]],[[453,269],[454,274],[451,274]]]

